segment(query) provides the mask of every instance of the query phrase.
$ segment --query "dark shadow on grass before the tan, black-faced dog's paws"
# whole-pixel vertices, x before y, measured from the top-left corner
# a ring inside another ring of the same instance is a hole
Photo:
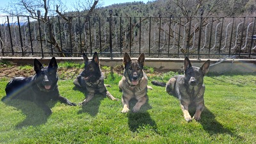
[[[138,100],[131,99],[129,102],[129,107],[132,108],[135,106]],[[128,125],[129,129],[132,132],[138,131],[138,129],[143,129],[145,127],[149,127],[149,129],[153,129],[157,132],[157,125],[154,120],[150,117],[150,114],[147,112],[148,109],[152,109],[152,107],[148,104],[148,101],[141,106],[140,111],[137,113],[133,113],[129,111],[128,116]]]

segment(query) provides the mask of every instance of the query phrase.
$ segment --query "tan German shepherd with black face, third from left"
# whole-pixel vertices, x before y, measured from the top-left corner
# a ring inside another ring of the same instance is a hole
[[[138,112],[143,104],[147,102],[148,78],[143,67],[145,65],[145,55],[142,53],[137,61],[132,61],[129,54],[124,54],[124,76],[119,81],[119,90],[122,91],[122,113],[129,111],[129,101],[132,98],[138,100],[132,108],[133,112]]]

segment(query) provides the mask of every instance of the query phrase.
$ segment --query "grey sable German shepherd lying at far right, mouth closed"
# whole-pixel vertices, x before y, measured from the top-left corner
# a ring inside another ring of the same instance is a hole
[[[199,67],[192,67],[189,58],[184,60],[184,76],[173,76],[165,83],[152,81],[152,84],[166,86],[166,92],[174,94],[180,100],[180,106],[187,122],[192,120],[189,115],[189,105],[195,106],[196,111],[193,119],[199,121],[204,110],[204,76],[209,71],[210,60]]]

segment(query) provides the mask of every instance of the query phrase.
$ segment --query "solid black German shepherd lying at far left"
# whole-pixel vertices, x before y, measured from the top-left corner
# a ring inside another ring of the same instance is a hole
[[[6,85],[5,92],[7,99],[22,99],[35,102],[44,109],[46,115],[51,115],[51,109],[46,105],[49,100],[60,100],[70,106],[76,106],[65,97],[61,97],[58,90],[57,62],[53,57],[48,65],[44,67],[38,60],[34,60],[36,74],[31,77],[14,77]]]

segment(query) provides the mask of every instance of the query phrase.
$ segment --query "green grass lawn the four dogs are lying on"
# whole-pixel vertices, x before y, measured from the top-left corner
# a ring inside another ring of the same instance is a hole
[[[173,74],[149,80],[167,81]],[[121,76],[106,75],[109,92],[121,99]],[[0,79],[0,99],[8,80]],[[81,102],[84,93],[72,81],[60,80],[60,93]],[[32,102],[0,102],[0,143],[255,143],[256,74],[207,74],[204,82],[206,109],[200,122],[186,122],[179,100],[150,82],[154,90],[148,90],[148,103],[140,113],[120,113],[121,100],[100,95],[84,107],[51,101],[50,116]]]

